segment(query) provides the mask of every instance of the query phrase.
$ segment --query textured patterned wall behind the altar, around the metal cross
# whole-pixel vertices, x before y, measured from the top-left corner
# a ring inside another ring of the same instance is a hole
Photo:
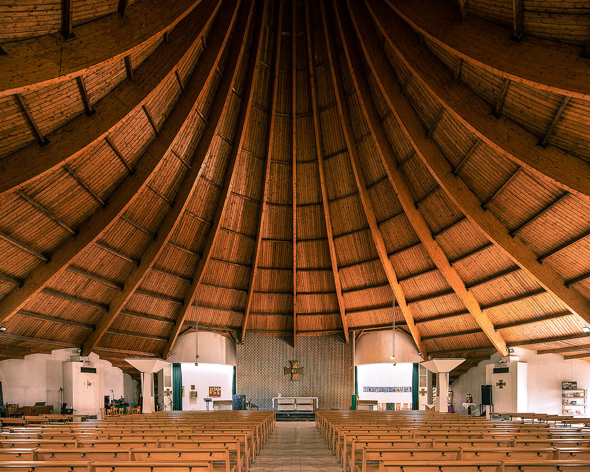
[[[299,361],[306,373],[292,382],[283,368]],[[261,409],[272,408],[273,396],[317,396],[320,409],[350,408],[351,346],[342,336],[299,336],[291,340],[247,333],[238,346],[238,393]]]

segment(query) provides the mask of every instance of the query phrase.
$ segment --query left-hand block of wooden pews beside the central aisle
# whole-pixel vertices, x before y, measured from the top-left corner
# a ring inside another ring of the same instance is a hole
[[[274,411],[157,412],[0,432],[0,472],[248,472]]]

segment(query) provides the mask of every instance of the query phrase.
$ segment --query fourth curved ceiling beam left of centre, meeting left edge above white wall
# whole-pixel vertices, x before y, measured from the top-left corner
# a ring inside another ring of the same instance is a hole
[[[219,22],[215,22],[215,27],[221,28]],[[225,29],[227,30],[227,24]],[[221,35],[221,37],[214,40],[219,44],[219,48],[221,48],[223,39],[224,36]],[[106,207],[98,208],[90,215],[81,225],[78,234],[69,237],[51,254],[50,261],[34,268],[28,274],[22,288],[15,288],[6,294],[0,306],[0,322],[22,308],[27,300],[38,293],[51,278],[65,270],[71,260],[109,230],[114,222],[123,215],[140,189],[148,182],[158,163],[168,154],[168,150],[184,126],[192,108],[204,93],[204,84],[207,83],[211,72],[211,64],[214,63],[217,57],[217,51],[218,48],[212,46],[201,55],[200,60],[203,63],[201,64],[199,61],[201,66],[195,67],[187,93],[176,101],[175,106],[173,106],[163,123],[162,129],[160,129],[160,136],[153,139],[145,149],[137,162],[136,171],[130,173],[117,186]]]

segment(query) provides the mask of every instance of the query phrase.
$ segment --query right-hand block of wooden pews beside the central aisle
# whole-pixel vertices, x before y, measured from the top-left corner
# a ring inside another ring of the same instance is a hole
[[[316,411],[343,472],[590,472],[590,425],[542,415]]]

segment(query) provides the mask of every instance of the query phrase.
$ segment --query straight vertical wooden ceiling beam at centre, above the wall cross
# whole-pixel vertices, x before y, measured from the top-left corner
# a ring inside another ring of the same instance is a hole
[[[295,6],[291,2],[291,174],[293,181],[293,348],[297,348],[297,66],[296,66],[296,31]],[[280,31],[280,30],[279,30]],[[277,57],[278,58],[278,57]]]

